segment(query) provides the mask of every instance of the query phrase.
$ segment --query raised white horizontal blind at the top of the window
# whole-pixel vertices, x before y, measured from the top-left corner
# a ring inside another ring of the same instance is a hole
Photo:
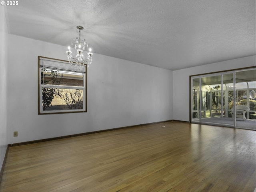
[[[74,66],[69,62],[61,60],[52,60],[49,58],[40,57],[39,66],[51,70],[65,70],[70,72],[86,73],[86,66]]]

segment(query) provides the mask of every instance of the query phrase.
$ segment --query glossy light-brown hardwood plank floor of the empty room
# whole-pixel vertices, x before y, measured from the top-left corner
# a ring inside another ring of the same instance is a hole
[[[255,131],[164,122],[9,148],[1,192],[254,192]]]

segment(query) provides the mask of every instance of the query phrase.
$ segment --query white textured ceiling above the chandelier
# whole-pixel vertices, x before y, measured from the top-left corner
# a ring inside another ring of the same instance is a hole
[[[20,0],[8,33],[177,70],[255,55],[255,0]],[[64,54],[66,54],[64,52]]]

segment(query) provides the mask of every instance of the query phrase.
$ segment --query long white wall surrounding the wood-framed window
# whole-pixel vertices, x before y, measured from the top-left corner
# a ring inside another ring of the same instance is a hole
[[[66,60],[66,47],[11,34],[8,41],[10,144],[172,119],[172,71],[100,54],[88,68],[88,112],[38,115],[38,56]]]

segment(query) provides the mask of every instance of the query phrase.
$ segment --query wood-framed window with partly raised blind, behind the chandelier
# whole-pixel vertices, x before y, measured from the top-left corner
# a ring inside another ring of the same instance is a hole
[[[86,66],[38,56],[38,114],[86,112]]]

